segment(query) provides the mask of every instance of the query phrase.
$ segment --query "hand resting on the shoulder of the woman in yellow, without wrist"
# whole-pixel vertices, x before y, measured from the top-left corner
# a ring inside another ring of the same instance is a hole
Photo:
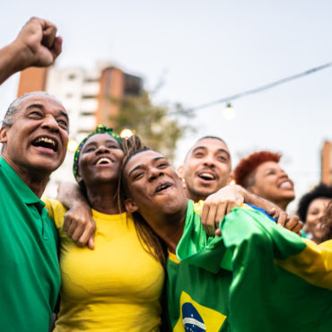
[[[96,223],[92,219],[91,208],[83,203],[76,203],[65,214],[64,231],[79,246],[94,249]]]

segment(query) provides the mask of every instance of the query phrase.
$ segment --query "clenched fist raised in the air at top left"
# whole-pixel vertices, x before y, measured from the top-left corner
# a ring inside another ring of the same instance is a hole
[[[49,66],[62,50],[62,38],[57,37],[57,27],[46,20],[32,17],[13,41],[20,49],[20,70],[28,66]]]

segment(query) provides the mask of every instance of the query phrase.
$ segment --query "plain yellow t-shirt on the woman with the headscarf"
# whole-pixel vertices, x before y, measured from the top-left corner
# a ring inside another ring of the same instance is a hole
[[[62,225],[66,208],[46,202],[60,236],[62,286],[55,331],[159,331],[162,265],[144,251],[130,214],[100,214],[95,249],[80,248]]]

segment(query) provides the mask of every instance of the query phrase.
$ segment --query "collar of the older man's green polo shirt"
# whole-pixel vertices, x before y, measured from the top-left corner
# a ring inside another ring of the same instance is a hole
[[[27,186],[27,184],[21,179],[21,177],[12,169],[12,167],[0,157],[0,167],[4,170],[4,173],[8,178],[11,179],[14,188],[20,192],[22,201],[26,204],[37,204],[40,211],[45,206],[45,204],[36,196],[36,194]]]

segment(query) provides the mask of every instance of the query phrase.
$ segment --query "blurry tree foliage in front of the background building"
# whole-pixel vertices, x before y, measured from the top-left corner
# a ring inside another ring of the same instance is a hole
[[[129,128],[144,139],[144,144],[156,150],[170,161],[174,160],[176,144],[188,130],[193,127],[180,125],[179,118],[175,118],[177,111],[170,112],[167,106],[155,105],[148,92],[140,96],[126,96],[122,100],[111,101],[118,104],[118,116],[110,117],[116,132]],[[176,105],[175,109],[180,109]],[[170,113],[174,117],[170,117]],[[178,115],[182,115],[180,112]],[[185,115],[186,116],[186,115]]]

